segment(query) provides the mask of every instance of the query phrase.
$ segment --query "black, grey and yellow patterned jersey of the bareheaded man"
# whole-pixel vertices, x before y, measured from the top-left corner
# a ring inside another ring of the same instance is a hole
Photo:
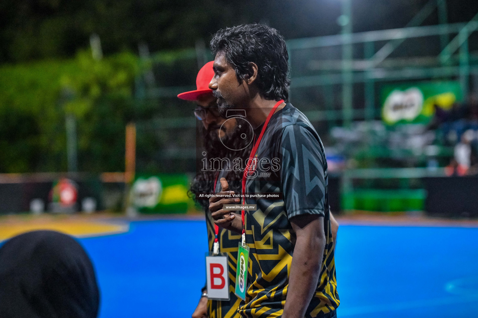
[[[239,313],[253,318],[282,315],[296,239],[289,219],[312,214],[324,217],[326,246],[305,317],[333,316],[339,297],[324,146],[305,115],[288,103],[271,117],[256,155],[258,164],[247,179],[246,194],[278,193],[282,197],[246,198],[257,210],[245,215],[250,265],[246,301],[241,302]]]

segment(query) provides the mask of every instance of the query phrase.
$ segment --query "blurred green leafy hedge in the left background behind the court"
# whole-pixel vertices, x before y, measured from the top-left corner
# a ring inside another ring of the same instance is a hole
[[[125,124],[139,71],[130,53],[0,68],[0,173],[66,170],[65,113],[77,125],[80,171],[124,170]]]

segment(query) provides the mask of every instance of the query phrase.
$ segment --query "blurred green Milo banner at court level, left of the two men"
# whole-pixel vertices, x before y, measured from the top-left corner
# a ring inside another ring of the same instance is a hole
[[[139,174],[131,188],[130,200],[141,213],[186,213],[194,205],[188,197],[185,174]]]

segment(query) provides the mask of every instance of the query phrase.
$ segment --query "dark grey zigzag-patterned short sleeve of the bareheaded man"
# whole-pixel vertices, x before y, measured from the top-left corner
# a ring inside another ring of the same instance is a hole
[[[299,124],[282,129],[282,195],[290,219],[296,215],[325,215],[326,157],[318,136]]]

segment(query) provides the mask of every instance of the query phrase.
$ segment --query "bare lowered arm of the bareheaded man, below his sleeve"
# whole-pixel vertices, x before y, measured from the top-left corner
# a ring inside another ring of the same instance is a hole
[[[326,244],[325,236],[316,234],[310,231],[297,236],[282,318],[303,318],[315,293]]]

